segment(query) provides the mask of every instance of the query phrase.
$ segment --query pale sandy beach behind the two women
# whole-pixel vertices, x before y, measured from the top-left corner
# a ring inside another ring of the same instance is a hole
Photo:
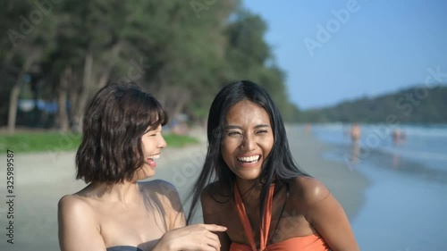
[[[200,143],[184,148],[170,148],[162,152],[157,162],[156,176],[152,179],[168,180],[176,186],[184,199],[189,195],[191,183],[196,179],[206,151],[206,132],[192,130]],[[342,163],[323,159],[327,149],[323,143],[304,133],[302,128],[288,129],[289,143],[295,160],[303,170],[322,180],[338,198],[352,219],[364,203],[368,181],[358,172]],[[14,173],[14,225],[13,242],[7,243],[9,206],[6,200],[5,168],[2,167],[0,197],[0,250],[59,250],[57,240],[57,202],[60,197],[72,194],[85,186],[75,180],[74,152],[66,153],[15,153]],[[0,156],[2,163],[5,155]],[[185,207],[186,209],[187,207]],[[199,216],[198,216],[199,218]]]

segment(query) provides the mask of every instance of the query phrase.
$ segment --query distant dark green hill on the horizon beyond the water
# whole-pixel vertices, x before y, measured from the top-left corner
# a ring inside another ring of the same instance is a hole
[[[306,122],[446,123],[447,86],[424,85],[301,113]],[[391,122],[392,121],[392,122]]]

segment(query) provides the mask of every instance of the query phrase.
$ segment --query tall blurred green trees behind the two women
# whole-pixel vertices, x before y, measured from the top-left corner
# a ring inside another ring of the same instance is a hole
[[[139,83],[171,116],[203,121],[220,88],[251,79],[286,121],[298,119],[266,22],[238,0],[1,1],[0,13],[0,126],[11,132],[79,131],[89,98],[120,81]],[[25,99],[36,101],[27,113]]]

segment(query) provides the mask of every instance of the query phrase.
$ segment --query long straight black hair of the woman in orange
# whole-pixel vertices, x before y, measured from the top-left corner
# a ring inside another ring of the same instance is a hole
[[[275,181],[275,183],[283,186],[288,180],[302,175],[308,176],[306,172],[299,169],[293,160],[283,118],[266,90],[249,80],[233,82],[224,87],[215,96],[209,109],[207,122],[207,156],[202,172],[200,172],[198,180],[192,188],[192,202],[188,214],[188,223],[191,222],[197,209],[196,207],[202,190],[211,181],[215,181],[214,186],[208,189],[207,192],[209,192],[215,201],[222,202],[216,199],[217,195],[219,197],[228,197],[228,199],[232,198],[232,192],[223,194],[223,188],[229,188],[232,191],[235,174],[223,161],[221,142],[226,113],[228,113],[233,105],[243,100],[253,102],[266,110],[270,117],[270,124],[274,134],[274,145],[270,154],[266,157],[266,162],[263,164],[262,172],[258,178],[258,182],[262,185],[260,195],[261,203],[259,205],[260,215],[264,213],[268,189],[272,182]]]

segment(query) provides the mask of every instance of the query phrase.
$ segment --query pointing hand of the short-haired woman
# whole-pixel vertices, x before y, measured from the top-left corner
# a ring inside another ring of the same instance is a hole
[[[164,233],[153,250],[218,251],[221,244],[212,231],[225,230],[225,227],[215,224],[195,224],[170,230]]]

